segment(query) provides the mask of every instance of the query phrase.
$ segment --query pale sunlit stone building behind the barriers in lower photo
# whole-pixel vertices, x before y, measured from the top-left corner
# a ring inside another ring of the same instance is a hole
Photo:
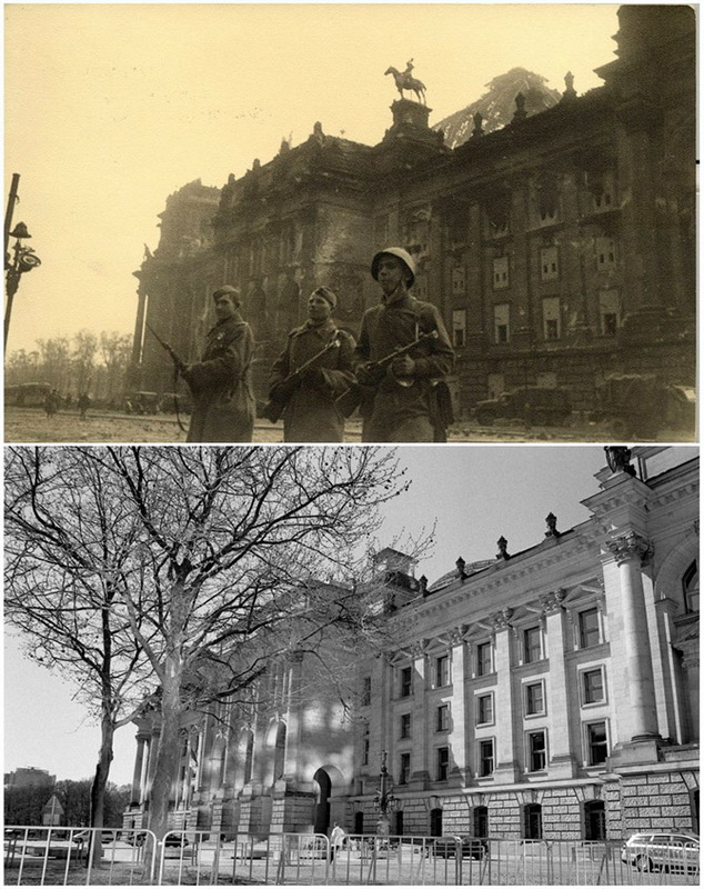
[[[550,515],[521,552],[500,538],[433,583],[380,552],[364,596],[393,641],[338,652],[350,712],[301,655],[272,663],[264,703],[193,713],[173,826],[374,833],[386,755],[392,833],[698,832],[698,460],[633,457],[609,449],[590,518],[561,529]],[[140,721],[125,827],[144,823],[158,735]]]

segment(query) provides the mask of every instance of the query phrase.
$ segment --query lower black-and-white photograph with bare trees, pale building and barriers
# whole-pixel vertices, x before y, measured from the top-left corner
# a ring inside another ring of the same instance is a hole
[[[698,885],[696,447],[4,479],[7,885]]]

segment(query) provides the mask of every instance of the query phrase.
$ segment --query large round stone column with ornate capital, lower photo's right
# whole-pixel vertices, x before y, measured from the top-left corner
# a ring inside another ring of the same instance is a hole
[[[625,729],[621,740],[625,742],[655,740],[660,735],[641,578],[641,566],[652,549],[645,538],[633,531],[606,541],[606,548],[618,566],[624,678],[628,683],[628,712],[620,713],[621,726]],[[612,638],[612,647],[615,641]]]

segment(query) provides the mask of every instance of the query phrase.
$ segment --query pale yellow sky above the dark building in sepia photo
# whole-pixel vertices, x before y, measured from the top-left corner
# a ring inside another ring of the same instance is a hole
[[[615,4],[8,3],[6,201],[13,172],[41,267],[23,276],[8,350],[81,328],[131,332],[144,243],[167,197],[221,187],[282,138],[375,144],[389,66],[428,88],[431,123],[524,67],[600,86]]]

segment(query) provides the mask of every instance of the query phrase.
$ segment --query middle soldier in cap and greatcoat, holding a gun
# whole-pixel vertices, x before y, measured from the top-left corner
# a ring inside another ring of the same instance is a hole
[[[336,306],[338,297],[329,287],[314,290],[308,320],[289,333],[285,349],[272,366],[269,398],[270,403],[284,406],[284,441],[343,441],[344,417],[335,399],[354,380],[354,339],[338,329],[332,318]],[[301,369],[311,359],[315,360]]]

